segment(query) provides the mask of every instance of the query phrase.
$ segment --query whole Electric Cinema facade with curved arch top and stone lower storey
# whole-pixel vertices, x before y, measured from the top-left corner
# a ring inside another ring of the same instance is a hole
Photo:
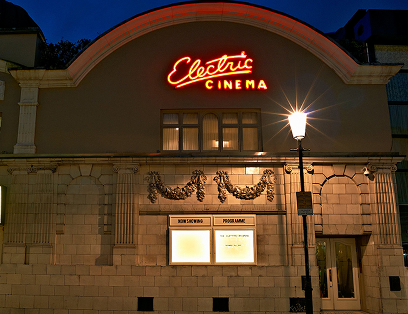
[[[10,61],[4,313],[304,312],[293,109],[314,311],[407,312],[385,89],[402,65],[234,2],[135,16],[64,70]]]

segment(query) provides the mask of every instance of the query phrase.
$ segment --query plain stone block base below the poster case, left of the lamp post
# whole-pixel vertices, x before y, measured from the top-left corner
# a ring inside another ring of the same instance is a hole
[[[0,308],[1,313],[135,314],[137,298],[149,296],[155,312],[212,313],[213,297],[222,296],[229,298],[230,312],[287,313],[289,298],[304,296],[300,274],[302,267],[281,266],[2,264]]]

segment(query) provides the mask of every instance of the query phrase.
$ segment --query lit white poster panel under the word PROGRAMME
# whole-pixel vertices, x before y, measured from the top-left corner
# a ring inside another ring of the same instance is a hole
[[[215,230],[215,263],[255,263],[254,230]]]

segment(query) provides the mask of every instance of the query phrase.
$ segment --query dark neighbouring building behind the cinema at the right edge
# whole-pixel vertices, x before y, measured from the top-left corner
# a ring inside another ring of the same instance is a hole
[[[359,10],[333,38],[365,62],[403,66],[386,85],[392,133],[392,151],[408,156],[408,10]],[[395,171],[401,236],[408,266],[408,159]]]

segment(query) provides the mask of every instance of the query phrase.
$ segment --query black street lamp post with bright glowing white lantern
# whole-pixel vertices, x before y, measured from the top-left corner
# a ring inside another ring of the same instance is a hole
[[[304,175],[303,175],[303,151],[308,150],[302,147],[302,139],[305,137],[306,130],[306,113],[295,112],[291,114],[289,119],[290,129],[295,140],[297,140],[297,150],[299,152],[299,174],[300,174],[300,191],[305,191]],[[306,299],[306,314],[313,314],[313,299],[312,299],[312,281],[310,279],[309,271],[309,248],[308,248],[308,236],[307,236],[307,223],[306,215],[302,215],[303,218],[303,236],[304,236],[304,249],[305,249],[305,299]]]

